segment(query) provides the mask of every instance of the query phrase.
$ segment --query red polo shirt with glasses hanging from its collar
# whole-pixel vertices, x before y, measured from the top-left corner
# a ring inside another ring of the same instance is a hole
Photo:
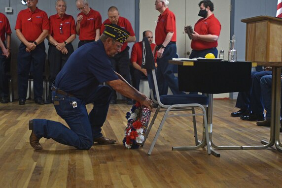
[[[58,14],[52,15],[49,17],[50,21],[50,30],[49,34],[59,43],[67,40],[71,34],[75,34],[75,21],[72,16],[65,14],[63,18],[61,18]],[[60,24],[62,25],[61,34]]]

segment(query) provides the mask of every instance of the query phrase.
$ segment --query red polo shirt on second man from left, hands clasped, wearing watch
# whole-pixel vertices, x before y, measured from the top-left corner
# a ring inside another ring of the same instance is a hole
[[[36,7],[32,12],[29,8],[21,10],[17,17],[15,30],[21,30],[27,41],[35,41],[43,30],[49,30],[46,12]]]

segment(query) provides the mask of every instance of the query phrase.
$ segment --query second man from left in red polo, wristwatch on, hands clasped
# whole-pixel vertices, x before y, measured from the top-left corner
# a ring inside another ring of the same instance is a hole
[[[27,9],[21,10],[15,26],[16,35],[21,40],[18,52],[18,93],[19,104],[24,105],[27,97],[31,64],[34,79],[36,104],[44,104],[43,68],[45,63],[44,39],[48,35],[49,20],[46,12],[38,9],[38,0],[27,0]]]

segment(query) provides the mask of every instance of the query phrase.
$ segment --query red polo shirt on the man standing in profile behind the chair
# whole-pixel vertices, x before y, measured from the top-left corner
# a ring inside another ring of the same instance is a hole
[[[155,30],[156,45],[163,44],[168,32],[174,32],[171,42],[176,42],[176,16],[169,8],[159,15]]]

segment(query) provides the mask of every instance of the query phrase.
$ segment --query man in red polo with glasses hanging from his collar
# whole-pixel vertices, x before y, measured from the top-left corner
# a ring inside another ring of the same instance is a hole
[[[48,63],[49,63],[49,95],[46,104],[52,103],[51,86],[57,74],[63,68],[73,52],[71,42],[75,39],[75,21],[72,16],[66,14],[67,4],[65,0],[56,1],[57,14],[50,16],[50,30]]]

